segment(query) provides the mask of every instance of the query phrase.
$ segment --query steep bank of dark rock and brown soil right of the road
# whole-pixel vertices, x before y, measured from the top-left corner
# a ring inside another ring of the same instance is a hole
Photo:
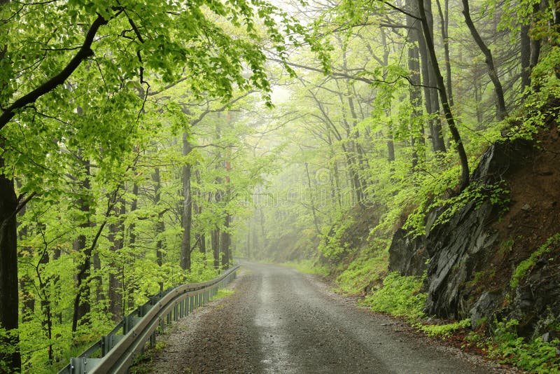
[[[426,312],[485,321],[517,319],[519,333],[538,336],[560,328],[560,134],[555,113],[535,141],[491,146],[472,173],[482,193],[447,221],[411,238],[398,230],[390,270],[427,270]],[[496,199],[496,186],[509,193]],[[556,236],[555,236],[556,235]],[[426,260],[428,260],[426,265]]]

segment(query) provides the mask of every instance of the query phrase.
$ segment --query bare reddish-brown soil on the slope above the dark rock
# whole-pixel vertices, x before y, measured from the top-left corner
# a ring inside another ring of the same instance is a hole
[[[473,286],[474,300],[482,291],[507,289],[517,265],[560,233],[560,132],[554,117],[547,123],[550,130],[538,134],[537,145],[503,175],[511,201],[491,226],[497,245],[484,262],[486,276]],[[549,268],[560,269],[558,253],[549,259]]]

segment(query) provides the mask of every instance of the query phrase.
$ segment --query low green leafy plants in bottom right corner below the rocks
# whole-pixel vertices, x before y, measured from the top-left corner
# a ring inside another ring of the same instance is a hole
[[[528,370],[530,373],[560,373],[560,357],[556,354],[559,340],[543,342],[541,338],[526,341],[519,338],[519,321],[498,322],[493,338],[486,342],[486,352],[502,363]]]

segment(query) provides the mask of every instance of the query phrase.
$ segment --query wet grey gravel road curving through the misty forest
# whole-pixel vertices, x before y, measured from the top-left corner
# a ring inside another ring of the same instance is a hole
[[[179,322],[151,373],[499,373],[291,268],[243,263],[235,293]]]

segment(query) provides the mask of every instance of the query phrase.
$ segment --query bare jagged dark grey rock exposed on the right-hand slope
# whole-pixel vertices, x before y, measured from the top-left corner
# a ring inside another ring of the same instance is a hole
[[[500,181],[510,167],[524,162],[532,149],[531,144],[520,140],[491,146],[472,173],[472,183]],[[428,215],[427,223],[439,213]],[[496,248],[498,234],[490,226],[498,214],[499,209],[489,200],[482,204],[469,202],[449,221],[433,228],[427,224],[427,233],[421,237],[410,240],[404,230],[398,230],[389,250],[389,269],[403,275],[420,275],[429,258],[426,312],[440,317],[468,317],[476,300],[465,284],[487,265],[484,261]],[[479,300],[473,311],[477,318],[492,314],[498,304],[494,294],[491,303],[486,299]]]

